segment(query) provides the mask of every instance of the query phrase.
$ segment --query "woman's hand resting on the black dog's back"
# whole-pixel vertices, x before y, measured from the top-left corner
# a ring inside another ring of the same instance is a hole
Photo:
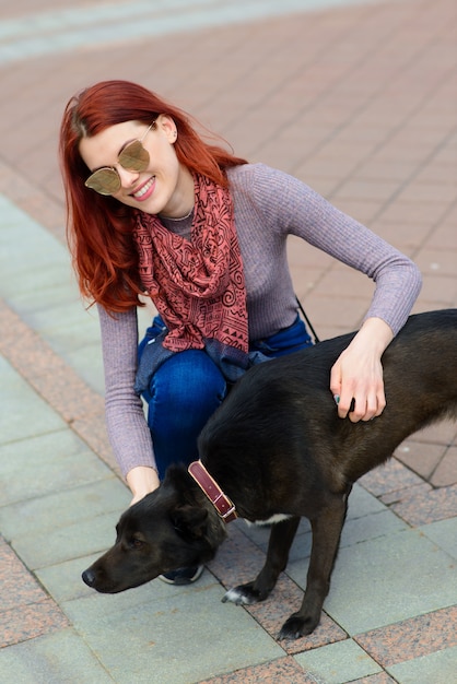
[[[335,363],[330,390],[338,415],[353,423],[380,415],[386,405],[380,357],[394,333],[380,318],[367,318]]]

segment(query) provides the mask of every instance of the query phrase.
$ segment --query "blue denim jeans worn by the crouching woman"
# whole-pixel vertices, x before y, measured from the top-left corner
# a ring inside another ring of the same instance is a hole
[[[156,317],[139,345],[140,357],[148,340],[162,331],[163,322]],[[249,351],[272,358],[309,345],[305,325],[297,318],[290,328],[253,342]],[[148,403],[148,425],[161,480],[171,463],[187,465],[198,459],[198,435],[227,390],[224,376],[204,350],[173,354],[152,375],[142,397]]]

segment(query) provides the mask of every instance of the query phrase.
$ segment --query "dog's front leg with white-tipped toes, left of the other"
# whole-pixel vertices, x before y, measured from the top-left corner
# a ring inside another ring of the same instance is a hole
[[[222,599],[223,602],[231,601],[237,605],[251,605],[267,599],[274,588],[278,577],[288,565],[289,551],[298,523],[300,518],[288,518],[273,524],[262,569],[254,581],[239,585],[227,591]]]

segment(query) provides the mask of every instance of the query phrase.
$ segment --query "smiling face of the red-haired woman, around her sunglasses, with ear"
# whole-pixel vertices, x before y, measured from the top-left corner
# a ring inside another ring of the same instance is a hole
[[[160,115],[149,132],[148,127],[139,121],[124,121],[82,138],[79,149],[89,168],[87,176],[97,168],[113,167],[120,179],[120,188],[113,197],[119,202],[150,214],[183,216],[194,207],[194,179],[176,156],[175,122]],[[150,156],[148,167],[143,172],[124,168],[118,160],[120,152],[127,143],[142,138]]]

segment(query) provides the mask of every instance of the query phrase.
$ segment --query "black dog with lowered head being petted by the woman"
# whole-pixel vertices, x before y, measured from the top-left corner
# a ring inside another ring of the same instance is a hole
[[[276,517],[260,574],[224,600],[263,601],[286,566],[300,518],[310,520],[305,595],[280,638],[309,634],[319,623],[352,484],[419,428],[457,417],[457,309],[409,318],[383,356],[385,411],[355,424],[338,417],[329,391],[330,368],[353,334],[255,366],[199,438],[201,461],[237,515]],[[116,544],[83,579],[97,591],[124,591],[207,563],[224,538],[224,522],[198,484],[185,469],[171,468],[159,490],[121,516]]]

